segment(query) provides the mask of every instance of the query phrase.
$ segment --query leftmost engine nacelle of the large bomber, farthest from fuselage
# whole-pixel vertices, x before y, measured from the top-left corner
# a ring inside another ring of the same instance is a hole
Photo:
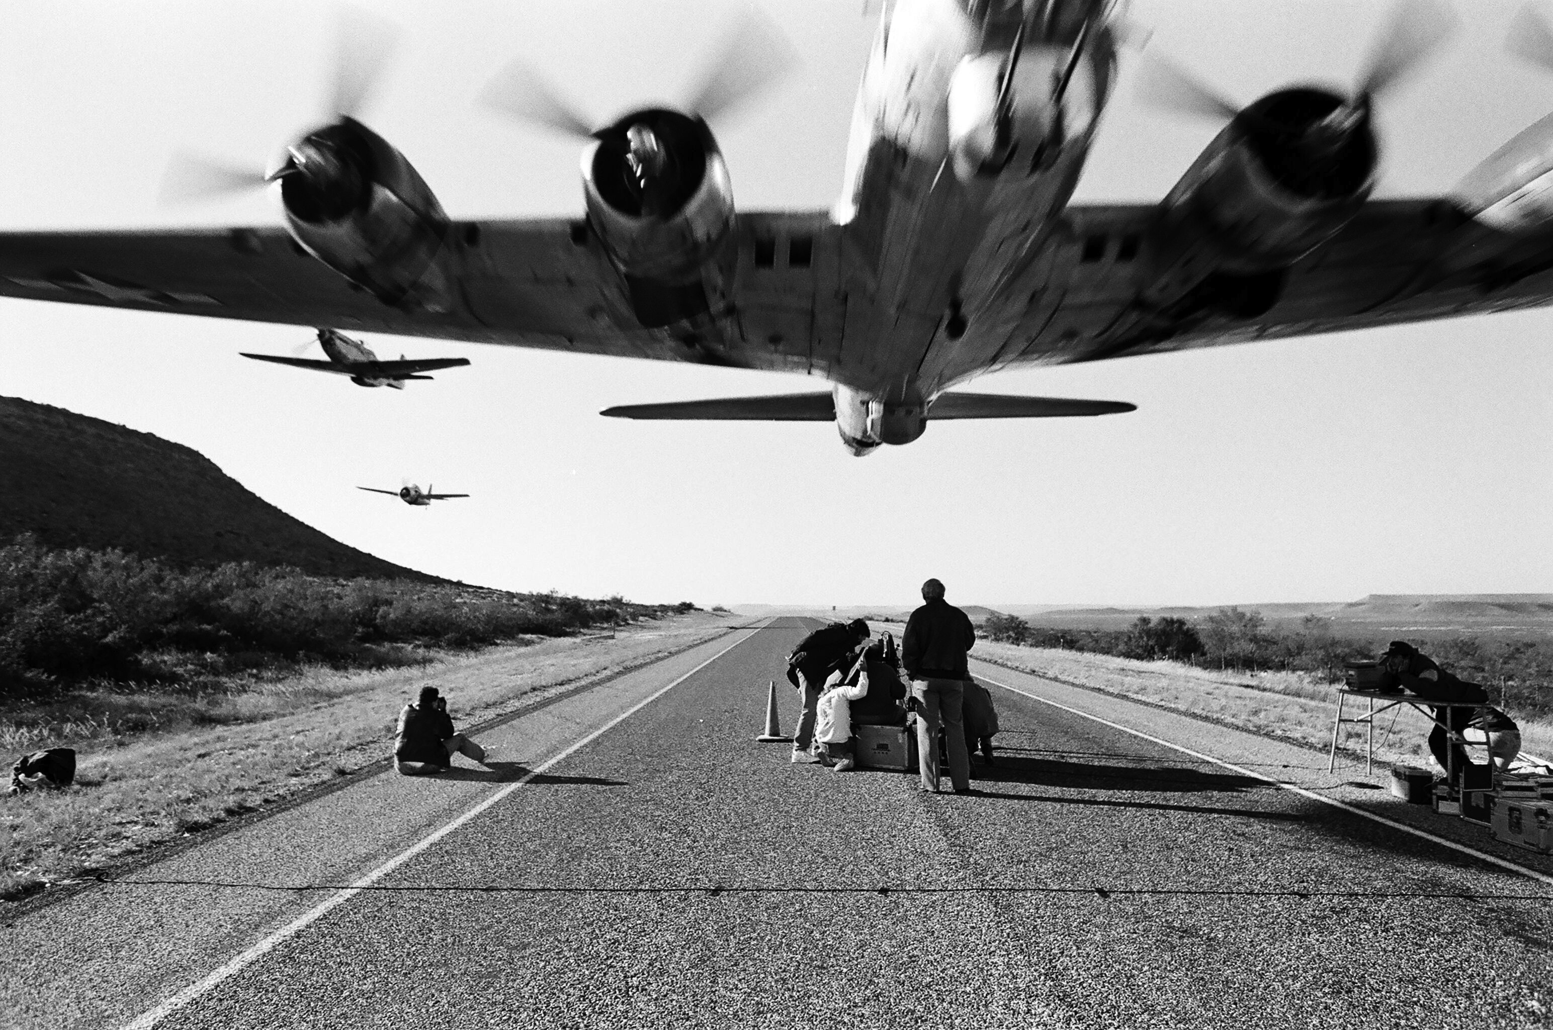
[[[449,221],[410,162],[353,118],[287,148],[286,222],[312,256],[385,304],[449,309],[438,256]]]

